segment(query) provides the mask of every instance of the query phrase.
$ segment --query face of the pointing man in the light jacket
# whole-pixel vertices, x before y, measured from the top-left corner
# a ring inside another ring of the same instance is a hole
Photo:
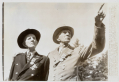
[[[63,30],[58,34],[58,41],[62,43],[69,43],[71,40],[71,32],[69,30]]]

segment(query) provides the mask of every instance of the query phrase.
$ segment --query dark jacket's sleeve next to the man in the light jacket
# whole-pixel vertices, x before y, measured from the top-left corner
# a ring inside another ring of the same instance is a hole
[[[47,80],[48,80],[49,64],[50,64],[50,60],[49,60],[49,58],[47,57],[47,59],[46,59],[46,61],[45,61],[45,64],[44,64],[44,73],[43,73],[44,81],[47,81]]]

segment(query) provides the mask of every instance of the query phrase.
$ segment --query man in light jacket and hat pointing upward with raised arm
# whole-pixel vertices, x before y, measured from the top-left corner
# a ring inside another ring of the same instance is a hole
[[[74,29],[70,26],[61,26],[53,34],[53,41],[59,47],[48,54],[50,58],[49,81],[76,81],[82,80],[78,76],[78,66],[87,58],[100,53],[105,44],[105,25],[102,23],[105,15],[99,13],[95,18],[95,35],[89,47],[75,44],[69,45],[74,35]]]

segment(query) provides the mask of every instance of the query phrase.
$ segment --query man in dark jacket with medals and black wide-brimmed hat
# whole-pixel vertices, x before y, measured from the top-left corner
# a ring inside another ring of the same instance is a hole
[[[36,52],[35,48],[40,40],[40,32],[35,29],[26,29],[17,39],[25,53],[14,57],[9,80],[10,81],[46,81],[49,73],[49,59]]]

